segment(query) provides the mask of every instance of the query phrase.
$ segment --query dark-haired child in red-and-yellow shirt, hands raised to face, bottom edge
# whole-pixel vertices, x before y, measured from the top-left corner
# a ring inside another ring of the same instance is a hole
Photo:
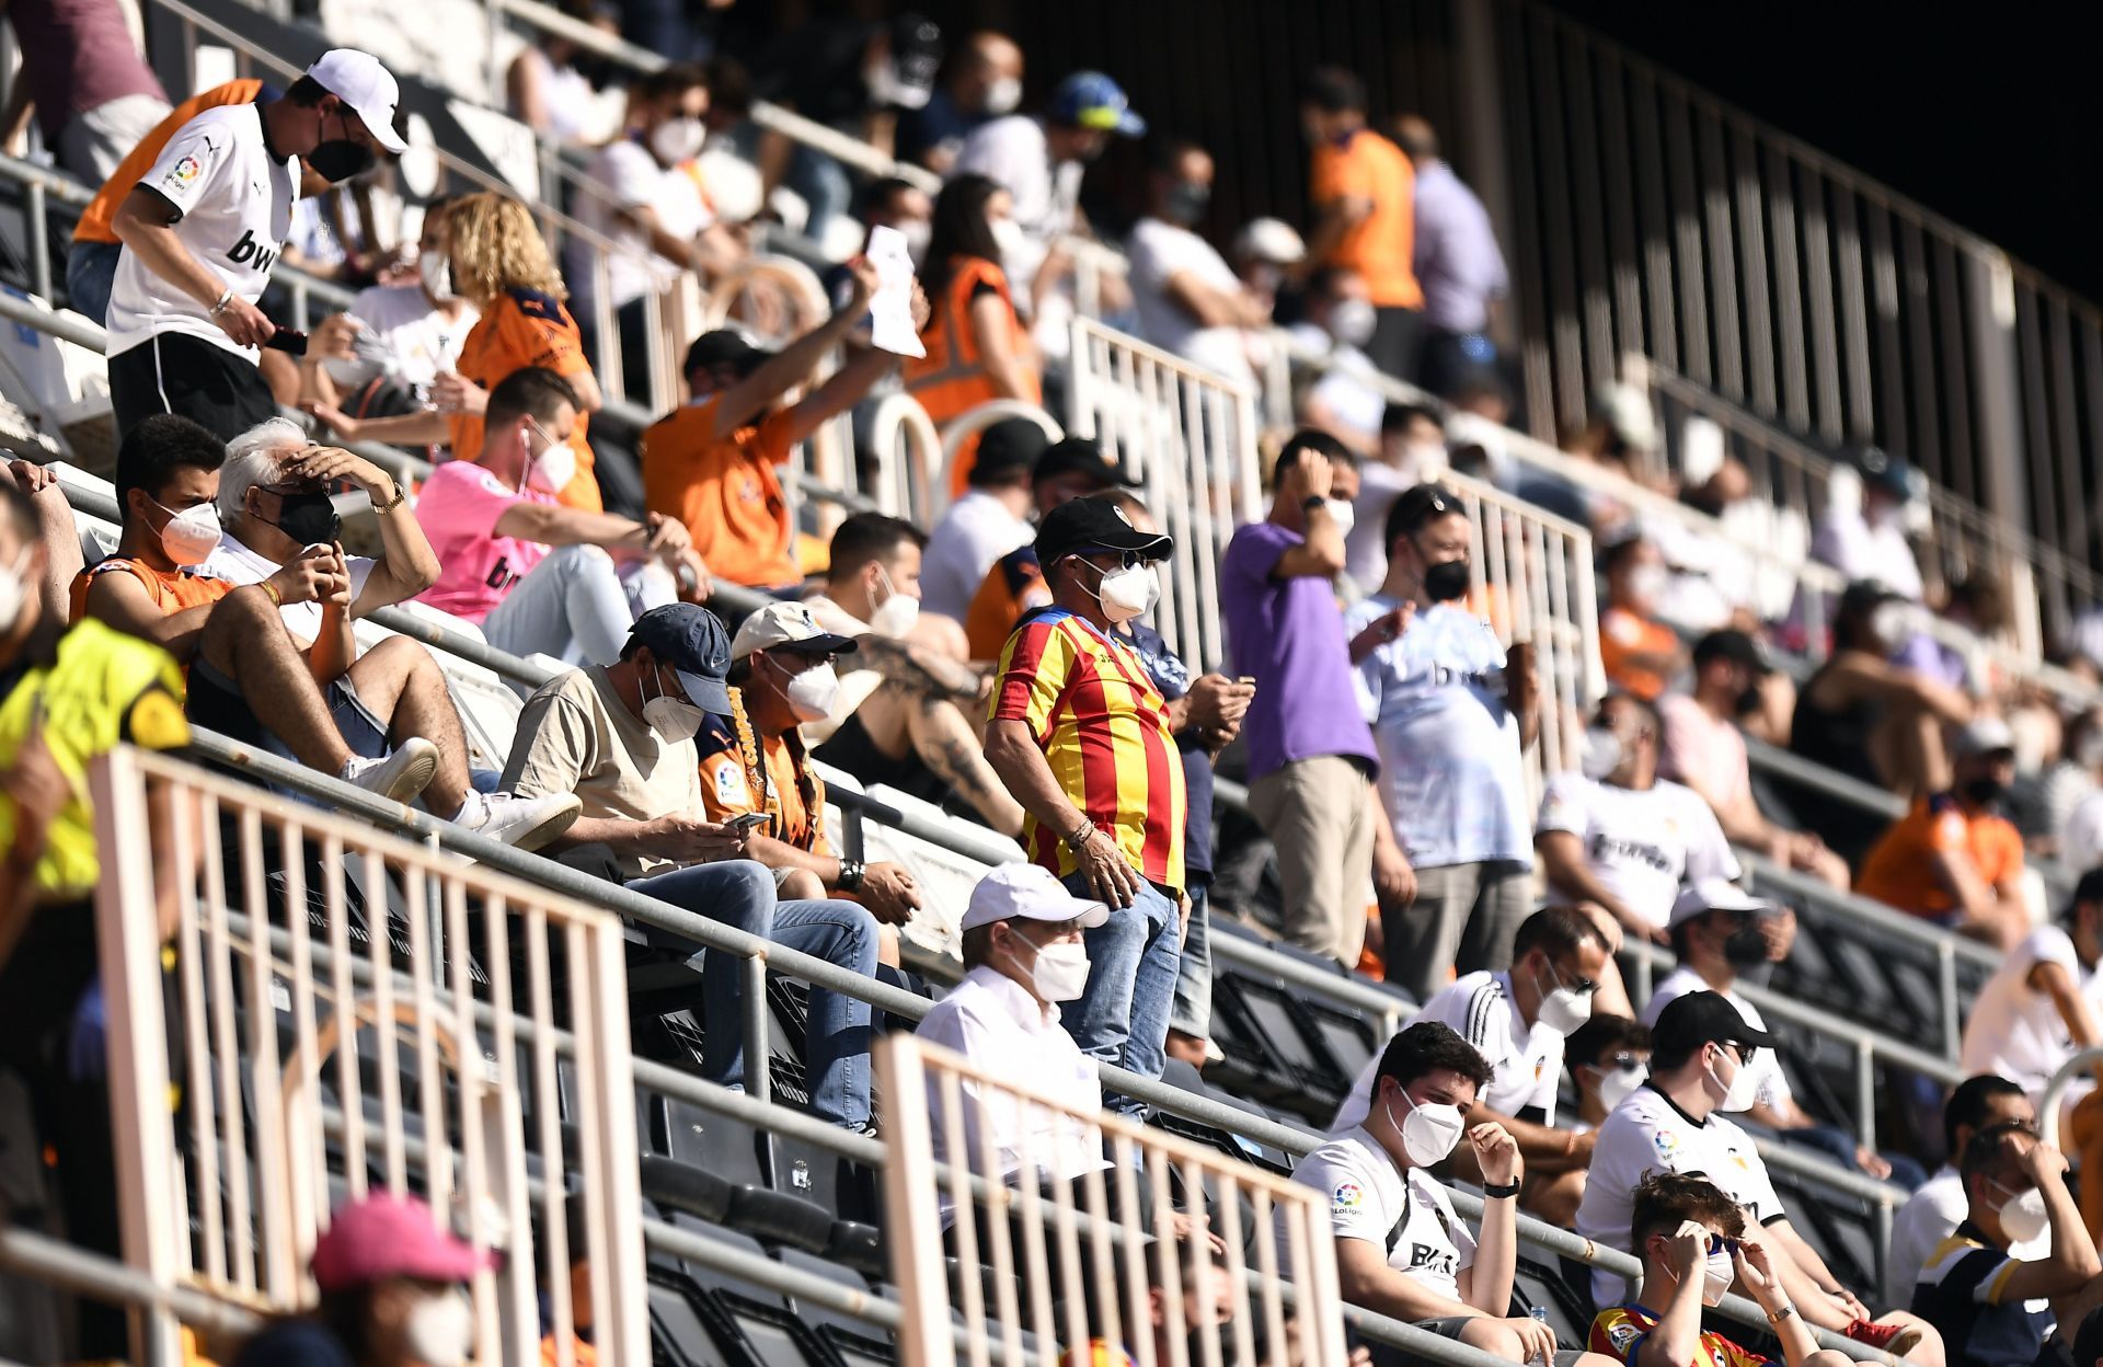
[[[1788,1367],[1851,1367],[1844,1352],[1819,1348],[1781,1287],[1773,1256],[1745,1230],[1745,1211],[1731,1197],[1701,1178],[1659,1171],[1636,1184],[1634,1207],[1628,1243],[1642,1260],[1642,1285],[1634,1302],[1598,1312],[1592,1352],[1626,1367],[1773,1367],[1773,1359],[1701,1327],[1701,1310],[1722,1302],[1737,1279],[1767,1310]]]

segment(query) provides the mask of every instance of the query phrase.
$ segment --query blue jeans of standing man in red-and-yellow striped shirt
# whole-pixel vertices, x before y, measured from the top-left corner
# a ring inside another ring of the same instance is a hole
[[[1066,890],[1094,900],[1087,879],[1073,875]],[[1176,1001],[1176,961],[1182,959],[1176,902],[1152,883],[1140,883],[1131,906],[1112,906],[1110,919],[1087,936],[1087,988],[1062,1014],[1081,1052],[1140,1077],[1161,1077],[1167,1066],[1169,1007]],[[1121,1115],[1146,1102],[1104,1091],[1102,1104]]]

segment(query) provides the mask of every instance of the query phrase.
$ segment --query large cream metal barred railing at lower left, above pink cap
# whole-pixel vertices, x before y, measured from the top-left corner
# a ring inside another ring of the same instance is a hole
[[[376,1150],[353,1125],[334,1165],[349,1195],[374,1176],[408,1192],[414,1134],[433,1211],[473,1247],[509,1256],[473,1281],[475,1356],[519,1361],[540,1340],[534,1245],[570,1266],[572,1197],[564,1184],[528,1197],[530,1163],[566,1169],[551,1035],[562,1020],[578,1062],[564,1096],[580,1140],[568,1157],[583,1171],[591,1323],[601,1352],[641,1361],[641,1304],[622,1295],[641,1279],[641,1237],[618,921],[147,751],[109,753],[90,784],[109,852],[95,915],[126,1262],[160,1285],[299,1308],[330,1209],[324,1091],[353,1117],[370,1102]],[[116,854],[147,850],[160,858]],[[175,883],[172,927],[156,877]],[[179,1022],[172,1068],[164,995]],[[376,1064],[376,1096],[362,1054]],[[397,1062],[408,1068],[410,1056],[416,1089],[404,1096]],[[534,1098],[534,1134],[522,1091]],[[568,1279],[551,1293],[568,1342]],[[172,1317],[147,1317],[141,1356],[172,1363]]]

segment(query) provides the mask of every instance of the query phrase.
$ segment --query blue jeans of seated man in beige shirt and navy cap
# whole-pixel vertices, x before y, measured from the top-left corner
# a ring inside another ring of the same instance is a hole
[[[734,925],[843,970],[875,978],[877,919],[854,902],[776,902],[774,871],[757,860],[694,864],[629,883],[629,892]],[[650,940],[694,948],[692,940],[652,930]],[[723,1087],[744,1087],[744,959],[705,955],[700,961],[700,1075]],[[810,995],[810,1108],[835,1125],[869,1123],[869,1003],[826,988]],[[1155,1068],[1159,1073],[1159,1066]]]

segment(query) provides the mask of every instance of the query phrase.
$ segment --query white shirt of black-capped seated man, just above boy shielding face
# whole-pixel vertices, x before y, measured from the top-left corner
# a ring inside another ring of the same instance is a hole
[[[1636,1182],[1653,1171],[1708,1178],[1722,1195],[1745,1207],[1745,1218],[1756,1224],[1788,1216],[1750,1134],[1722,1113],[1697,1121],[1655,1085],[1645,1083],[1598,1127],[1592,1171],[1577,1205],[1577,1235],[1626,1253],[1628,1222],[1636,1213]],[[1592,1272],[1594,1304],[1617,1306],[1621,1298],[1619,1277]]]

